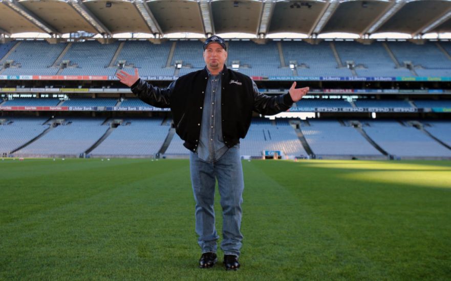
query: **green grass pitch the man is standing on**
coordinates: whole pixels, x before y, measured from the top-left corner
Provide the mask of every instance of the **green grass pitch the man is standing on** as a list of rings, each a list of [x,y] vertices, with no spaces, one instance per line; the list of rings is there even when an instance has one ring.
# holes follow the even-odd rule
[[[242,268],[226,272],[220,251],[197,268],[188,160],[0,160],[0,279],[451,278],[451,162],[243,169]]]

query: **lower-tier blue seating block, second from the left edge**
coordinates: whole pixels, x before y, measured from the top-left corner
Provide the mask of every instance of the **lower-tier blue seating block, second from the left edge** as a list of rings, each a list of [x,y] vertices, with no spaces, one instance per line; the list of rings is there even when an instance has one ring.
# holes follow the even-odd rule
[[[16,151],[14,156],[79,156],[109,129],[102,123],[103,119],[100,118],[64,118],[61,125],[51,128],[28,146]]]

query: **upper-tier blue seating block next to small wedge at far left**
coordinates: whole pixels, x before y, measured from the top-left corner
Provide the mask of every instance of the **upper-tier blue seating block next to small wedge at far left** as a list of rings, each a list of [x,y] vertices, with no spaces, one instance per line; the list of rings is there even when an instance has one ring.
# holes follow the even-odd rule
[[[4,60],[13,60],[2,75],[54,75],[58,68],[50,67],[67,43],[50,44],[47,41],[21,41]]]

